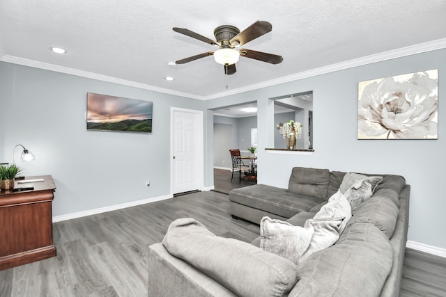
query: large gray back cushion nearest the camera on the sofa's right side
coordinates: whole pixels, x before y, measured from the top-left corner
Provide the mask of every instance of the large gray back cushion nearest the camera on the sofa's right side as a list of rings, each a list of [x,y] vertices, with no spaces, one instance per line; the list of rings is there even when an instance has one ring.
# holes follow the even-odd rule
[[[349,224],[334,246],[299,263],[289,296],[379,296],[391,268],[386,236],[371,224]]]

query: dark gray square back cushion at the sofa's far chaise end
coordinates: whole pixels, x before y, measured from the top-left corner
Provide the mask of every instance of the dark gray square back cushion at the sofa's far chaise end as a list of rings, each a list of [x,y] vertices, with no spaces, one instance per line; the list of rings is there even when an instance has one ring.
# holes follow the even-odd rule
[[[288,190],[291,193],[326,200],[329,181],[328,169],[295,167],[291,171]]]

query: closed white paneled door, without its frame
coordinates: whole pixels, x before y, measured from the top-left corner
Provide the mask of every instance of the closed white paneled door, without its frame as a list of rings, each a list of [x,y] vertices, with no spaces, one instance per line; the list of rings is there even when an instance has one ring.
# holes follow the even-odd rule
[[[203,176],[203,113],[172,110],[173,192],[199,190]]]

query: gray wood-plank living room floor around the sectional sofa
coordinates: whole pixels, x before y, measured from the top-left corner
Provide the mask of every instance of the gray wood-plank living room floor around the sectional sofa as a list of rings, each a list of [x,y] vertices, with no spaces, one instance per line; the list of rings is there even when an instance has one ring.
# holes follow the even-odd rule
[[[0,271],[0,296],[147,296],[148,246],[176,218],[247,242],[259,236],[228,209],[227,195],[208,191],[54,223],[57,256]],[[446,296],[445,280],[446,258],[406,251],[401,296]]]

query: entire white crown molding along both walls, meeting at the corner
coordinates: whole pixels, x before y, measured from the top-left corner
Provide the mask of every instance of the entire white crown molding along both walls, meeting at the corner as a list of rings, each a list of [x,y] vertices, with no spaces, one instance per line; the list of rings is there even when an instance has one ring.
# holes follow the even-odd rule
[[[317,75],[321,75],[321,74],[327,74],[330,72],[345,70],[348,68],[367,65],[367,64],[371,64],[371,63],[377,63],[377,62],[381,62],[381,61],[387,61],[387,60],[390,60],[393,58],[401,58],[401,57],[410,56],[413,54],[421,54],[426,51],[434,51],[436,49],[444,49],[444,48],[446,48],[446,38],[439,39],[439,40],[433,40],[433,41],[429,41],[429,42],[424,42],[424,43],[420,43],[418,45],[411,45],[409,47],[402,47],[400,49],[394,49],[391,51],[384,51],[379,54],[364,56],[361,58],[355,58],[353,60],[344,61],[341,63],[335,63],[332,65],[318,67],[318,68],[315,68],[312,70],[307,70],[304,72],[298,72],[295,74],[291,74],[286,77],[280,77],[278,79],[271,79],[269,81],[263,81],[261,83],[254,83],[252,85],[245,86],[243,88],[236,88],[233,90],[224,91],[222,93],[215,93],[213,95],[208,95],[208,96],[200,96],[200,95],[194,95],[194,94],[190,94],[190,93],[178,92],[175,90],[169,90],[167,88],[160,88],[160,87],[156,87],[156,86],[147,85],[144,83],[136,83],[134,81],[127,81],[125,79],[117,79],[116,77],[107,77],[106,75],[102,75],[102,74],[86,72],[86,71],[77,70],[77,69],[70,68],[70,67],[62,67],[62,66],[58,66],[58,65],[49,64],[49,63],[42,63],[42,62],[33,61],[33,60],[29,60],[29,59],[18,58],[15,56],[9,56],[9,55],[1,56],[1,54],[2,54],[1,47],[0,47],[0,56],[1,56],[0,61],[14,63],[14,64],[18,64],[18,65],[29,66],[29,67],[36,67],[36,68],[40,68],[40,69],[44,69],[44,70],[51,70],[54,72],[61,72],[61,73],[65,73],[65,74],[72,74],[72,75],[76,75],[78,77],[97,79],[99,81],[118,83],[118,84],[121,84],[124,86],[131,86],[134,88],[141,88],[144,90],[152,90],[152,91],[158,92],[158,93],[165,93],[165,94],[169,94],[169,95],[187,97],[187,98],[198,99],[198,100],[210,100],[210,99],[216,99],[216,98],[220,98],[220,97],[226,97],[229,95],[245,93],[247,91],[256,90],[259,88],[275,86],[275,85],[279,85],[281,83],[288,83],[290,81],[297,81],[299,79],[316,77]]]

